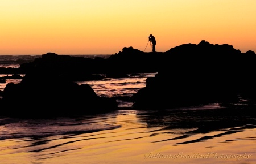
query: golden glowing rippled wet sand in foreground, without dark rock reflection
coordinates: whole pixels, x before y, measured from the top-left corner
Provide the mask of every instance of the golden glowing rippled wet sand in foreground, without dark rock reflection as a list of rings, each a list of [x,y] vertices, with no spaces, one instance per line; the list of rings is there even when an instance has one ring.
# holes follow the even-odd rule
[[[152,126],[138,111],[118,112],[84,119],[121,125],[113,130],[3,140],[1,163],[256,163],[253,125],[186,136],[196,128],[166,128],[164,119]]]

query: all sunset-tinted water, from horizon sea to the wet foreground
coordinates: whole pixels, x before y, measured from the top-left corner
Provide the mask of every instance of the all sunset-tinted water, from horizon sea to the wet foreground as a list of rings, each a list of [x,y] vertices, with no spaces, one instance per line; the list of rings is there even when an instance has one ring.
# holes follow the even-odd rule
[[[40,57],[0,55],[0,67],[18,68]],[[99,96],[118,97],[117,111],[48,119],[0,115],[0,163],[256,163],[256,116],[246,111],[218,103],[168,110],[130,109],[129,97],[155,74],[77,82],[89,84]],[[0,74],[3,76],[6,74]],[[0,90],[7,83],[1,83]]]

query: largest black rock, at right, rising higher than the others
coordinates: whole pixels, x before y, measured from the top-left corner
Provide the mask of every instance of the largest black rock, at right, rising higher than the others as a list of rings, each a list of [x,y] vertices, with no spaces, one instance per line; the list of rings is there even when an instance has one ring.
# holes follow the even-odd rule
[[[255,95],[256,55],[230,45],[201,41],[166,52],[158,74],[134,94],[133,107],[171,108],[207,103],[237,103]]]

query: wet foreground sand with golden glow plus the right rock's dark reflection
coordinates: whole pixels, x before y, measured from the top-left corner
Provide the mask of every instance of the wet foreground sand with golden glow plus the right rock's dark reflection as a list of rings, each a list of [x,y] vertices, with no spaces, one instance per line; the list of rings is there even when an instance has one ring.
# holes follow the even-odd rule
[[[255,117],[230,108],[118,110],[76,118],[114,128],[7,139],[0,156],[4,163],[255,163]]]

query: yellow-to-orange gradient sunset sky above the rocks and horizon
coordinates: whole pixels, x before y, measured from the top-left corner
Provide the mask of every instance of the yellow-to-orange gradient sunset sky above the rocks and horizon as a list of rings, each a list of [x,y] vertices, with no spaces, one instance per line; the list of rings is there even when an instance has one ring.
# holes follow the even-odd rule
[[[255,8],[255,0],[1,0],[0,54],[144,51],[150,34],[156,51],[205,40],[256,52]]]

